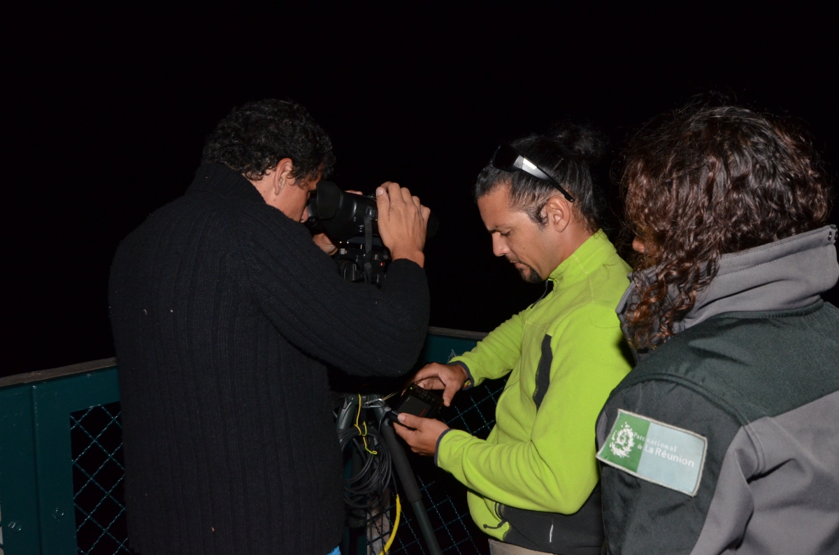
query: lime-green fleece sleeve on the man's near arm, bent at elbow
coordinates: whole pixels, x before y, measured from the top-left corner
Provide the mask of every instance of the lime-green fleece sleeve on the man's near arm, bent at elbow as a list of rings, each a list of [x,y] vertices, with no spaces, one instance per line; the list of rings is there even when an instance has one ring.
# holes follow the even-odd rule
[[[569,514],[582,506],[597,484],[592,439],[597,413],[629,366],[611,306],[586,304],[547,331],[553,338],[553,360],[550,386],[538,411],[529,414],[529,403],[500,400],[496,419],[508,430],[496,429],[487,440],[451,430],[440,439],[437,464],[485,498],[530,511]],[[490,345],[492,350],[487,349],[480,361],[487,364],[490,356],[497,355],[500,360],[492,365],[494,373],[508,365],[512,349],[500,340]],[[509,436],[517,432],[516,420],[531,416],[529,437],[511,441]],[[504,440],[498,441],[499,436]]]

